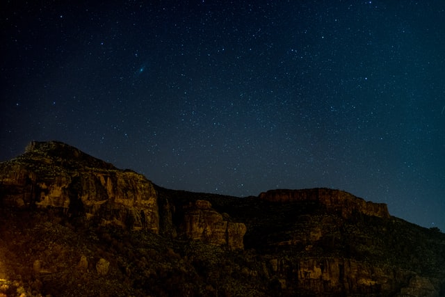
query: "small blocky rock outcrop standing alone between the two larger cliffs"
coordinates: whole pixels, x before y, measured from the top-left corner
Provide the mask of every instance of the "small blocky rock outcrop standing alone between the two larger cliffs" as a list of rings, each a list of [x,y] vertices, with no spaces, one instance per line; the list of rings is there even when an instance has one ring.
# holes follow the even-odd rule
[[[232,223],[228,215],[218,213],[211,208],[211,203],[197,200],[184,207],[184,232],[188,239],[231,249],[243,248],[243,236],[246,232],[243,223]]]

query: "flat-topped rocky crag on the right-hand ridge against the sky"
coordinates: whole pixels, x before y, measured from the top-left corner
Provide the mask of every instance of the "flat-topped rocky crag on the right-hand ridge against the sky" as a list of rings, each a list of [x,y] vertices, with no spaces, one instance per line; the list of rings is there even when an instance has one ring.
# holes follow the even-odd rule
[[[269,202],[318,202],[330,211],[341,213],[343,218],[348,218],[353,213],[389,218],[387,204],[365,201],[345,191],[330,188],[271,190],[266,193],[261,193],[259,199]]]

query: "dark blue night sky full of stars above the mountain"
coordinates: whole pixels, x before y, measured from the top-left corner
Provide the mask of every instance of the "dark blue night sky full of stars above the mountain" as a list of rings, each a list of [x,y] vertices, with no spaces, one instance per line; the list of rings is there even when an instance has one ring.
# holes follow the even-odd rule
[[[0,161],[63,141],[166,188],[339,188],[444,232],[445,1],[30,2],[0,4]]]

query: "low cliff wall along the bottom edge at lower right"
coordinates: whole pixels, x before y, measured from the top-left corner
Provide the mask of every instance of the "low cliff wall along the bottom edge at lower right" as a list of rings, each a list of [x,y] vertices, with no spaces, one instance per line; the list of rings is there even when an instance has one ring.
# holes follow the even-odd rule
[[[277,277],[280,287],[297,284],[301,293],[311,296],[380,296],[382,291],[394,290],[413,273],[389,266],[373,266],[355,259],[307,258],[270,259],[270,275]],[[414,295],[413,295],[414,296]],[[423,296],[423,295],[415,295]]]

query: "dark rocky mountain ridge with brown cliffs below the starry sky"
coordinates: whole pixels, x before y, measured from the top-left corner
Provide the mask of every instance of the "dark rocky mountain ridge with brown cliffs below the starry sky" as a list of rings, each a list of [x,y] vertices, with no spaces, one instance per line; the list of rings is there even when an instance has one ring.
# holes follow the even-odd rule
[[[344,191],[174,191],[34,141],[0,163],[0,296],[445,296],[445,234]]]

